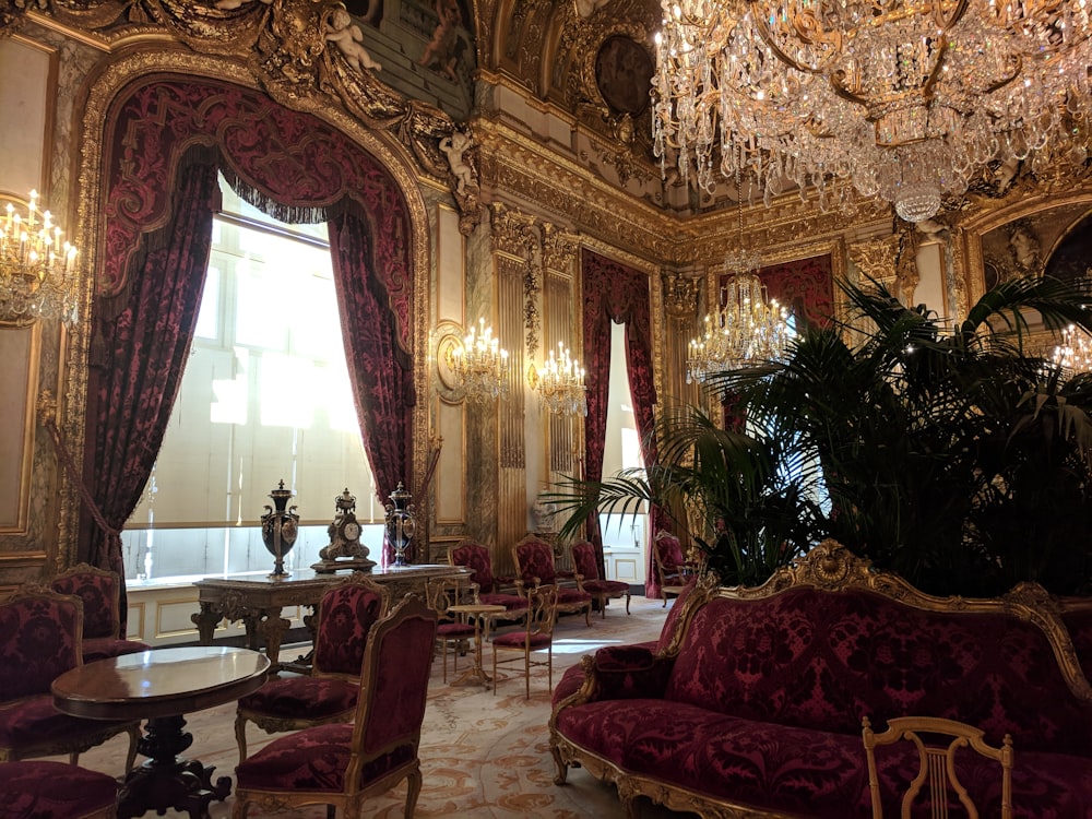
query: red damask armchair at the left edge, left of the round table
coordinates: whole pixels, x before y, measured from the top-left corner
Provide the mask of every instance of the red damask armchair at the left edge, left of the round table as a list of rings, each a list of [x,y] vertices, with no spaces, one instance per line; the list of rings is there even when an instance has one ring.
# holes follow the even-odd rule
[[[26,587],[0,603],[0,762],[80,753],[129,734],[126,771],[136,759],[138,722],[84,720],[54,708],[52,681],[83,664],[79,597]]]

